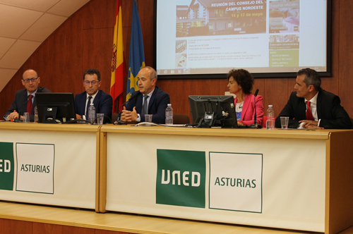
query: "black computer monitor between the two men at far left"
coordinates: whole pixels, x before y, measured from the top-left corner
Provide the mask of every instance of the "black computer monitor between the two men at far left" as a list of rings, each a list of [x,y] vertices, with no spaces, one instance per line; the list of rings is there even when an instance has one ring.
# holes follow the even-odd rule
[[[73,93],[38,92],[38,118],[41,123],[58,123],[76,119]]]

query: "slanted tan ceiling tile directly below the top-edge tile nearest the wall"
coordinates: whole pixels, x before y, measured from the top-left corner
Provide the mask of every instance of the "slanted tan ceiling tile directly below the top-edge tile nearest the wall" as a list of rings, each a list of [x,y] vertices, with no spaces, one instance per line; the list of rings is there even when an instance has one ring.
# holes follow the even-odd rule
[[[44,42],[49,35],[56,30],[64,21],[66,17],[54,16],[45,13],[39,20],[37,20],[28,30],[20,37],[20,39],[27,39],[35,42]]]

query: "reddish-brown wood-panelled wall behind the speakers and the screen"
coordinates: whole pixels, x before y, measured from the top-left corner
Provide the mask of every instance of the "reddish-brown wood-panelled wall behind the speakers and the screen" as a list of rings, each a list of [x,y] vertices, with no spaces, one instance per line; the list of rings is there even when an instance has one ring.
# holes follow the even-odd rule
[[[152,66],[154,0],[137,2],[143,30],[145,62]],[[132,0],[121,0],[126,66],[130,47],[132,4]],[[84,91],[81,82],[84,70],[94,67],[102,74],[101,89],[109,93],[115,6],[116,0],[91,0],[48,37],[1,91],[1,116],[11,105],[16,90],[23,88],[20,79],[23,71],[28,68],[37,70],[42,79],[41,85],[49,90],[77,94]],[[330,78],[322,78],[322,87],[338,94],[342,105],[353,117],[352,11],[352,0],[333,0],[333,75]],[[295,78],[257,78],[254,89],[258,88],[259,94],[263,95],[265,109],[268,104],[273,104],[275,113],[278,114],[287,103],[294,82]],[[224,94],[227,91],[226,79],[158,80],[157,85],[169,93],[174,113],[189,114],[188,95]]]

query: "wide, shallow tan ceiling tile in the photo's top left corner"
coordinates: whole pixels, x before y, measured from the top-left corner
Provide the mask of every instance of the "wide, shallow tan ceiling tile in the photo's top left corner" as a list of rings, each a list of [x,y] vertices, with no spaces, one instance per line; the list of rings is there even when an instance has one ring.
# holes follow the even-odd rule
[[[0,0],[0,4],[45,12],[59,1],[60,0]]]

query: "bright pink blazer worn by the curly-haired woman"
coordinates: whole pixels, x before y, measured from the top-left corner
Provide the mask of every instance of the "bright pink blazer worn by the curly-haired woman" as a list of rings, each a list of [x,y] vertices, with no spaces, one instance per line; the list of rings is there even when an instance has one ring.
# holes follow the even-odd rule
[[[237,97],[234,104],[237,104]],[[253,123],[253,94],[246,94],[244,98],[243,110],[241,111],[241,122],[245,125]],[[256,123],[263,124],[263,97],[256,96]]]

